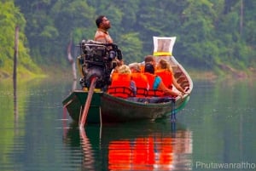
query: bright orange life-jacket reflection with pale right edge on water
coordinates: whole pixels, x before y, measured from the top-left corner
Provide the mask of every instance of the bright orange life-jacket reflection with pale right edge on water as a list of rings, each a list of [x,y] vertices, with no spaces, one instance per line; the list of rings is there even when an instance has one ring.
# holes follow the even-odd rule
[[[191,134],[159,135],[135,140],[113,140],[108,145],[109,170],[191,170]]]

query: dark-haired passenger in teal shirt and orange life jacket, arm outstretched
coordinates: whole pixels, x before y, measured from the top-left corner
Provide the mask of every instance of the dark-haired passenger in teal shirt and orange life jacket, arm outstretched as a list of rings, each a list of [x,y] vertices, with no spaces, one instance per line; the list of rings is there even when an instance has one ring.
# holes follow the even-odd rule
[[[144,74],[148,77],[149,84],[149,96],[164,96],[164,95],[172,95],[172,96],[181,96],[183,94],[172,91],[172,89],[166,88],[166,85],[162,82],[159,76],[154,74],[154,57],[148,55],[145,57],[145,70]]]

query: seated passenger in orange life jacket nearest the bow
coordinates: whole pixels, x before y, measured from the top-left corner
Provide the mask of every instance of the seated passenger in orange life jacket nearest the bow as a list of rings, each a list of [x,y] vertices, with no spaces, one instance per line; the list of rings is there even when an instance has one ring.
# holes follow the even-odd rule
[[[173,76],[172,66],[166,61],[161,59],[156,66],[156,75],[162,78],[163,83],[165,83],[167,88],[172,89],[172,85],[177,88],[178,91],[185,94],[183,88],[177,83],[175,77]]]

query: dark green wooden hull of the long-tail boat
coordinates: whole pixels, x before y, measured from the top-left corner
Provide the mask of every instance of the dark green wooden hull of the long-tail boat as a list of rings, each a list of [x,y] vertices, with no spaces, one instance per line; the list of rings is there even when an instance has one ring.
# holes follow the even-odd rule
[[[63,105],[74,121],[79,122],[88,92],[75,90]],[[155,120],[169,117],[183,108],[189,95],[164,103],[143,103],[114,97],[103,92],[92,96],[86,123],[124,123],[138,120]]]

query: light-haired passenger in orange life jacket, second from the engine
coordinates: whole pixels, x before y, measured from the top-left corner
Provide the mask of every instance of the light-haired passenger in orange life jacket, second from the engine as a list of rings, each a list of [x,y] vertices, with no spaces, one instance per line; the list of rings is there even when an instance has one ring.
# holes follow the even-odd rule
[[[132,63],[129,65],[131,70],[131,79],[136,83],[137,97],[145,97],[148,93],[148,78],[141,73],[141,67],[139,63]]]

